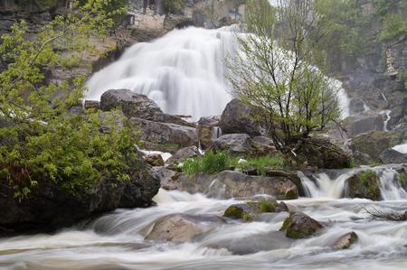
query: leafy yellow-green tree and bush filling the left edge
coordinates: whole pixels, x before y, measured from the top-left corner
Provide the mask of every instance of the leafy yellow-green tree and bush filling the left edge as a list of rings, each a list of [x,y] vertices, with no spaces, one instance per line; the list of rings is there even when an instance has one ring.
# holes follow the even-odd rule
[[[1,37],[0,182],[19,199],[43,181],[76,193],[101,175],[129,179],[137,161],[130,128],[111,125],[118,115],[70,112],[80,104],[86,79],[72,70],[102,53],[90,41],[102,38],[126,11],[124,5],[112,9],[115,2],[76,1],[73,13],[57,16],[34,35],[23,21]],[[54,70],[66,79],[52,81]],[[101,125],[109,125],[108,135],[99,132]]]

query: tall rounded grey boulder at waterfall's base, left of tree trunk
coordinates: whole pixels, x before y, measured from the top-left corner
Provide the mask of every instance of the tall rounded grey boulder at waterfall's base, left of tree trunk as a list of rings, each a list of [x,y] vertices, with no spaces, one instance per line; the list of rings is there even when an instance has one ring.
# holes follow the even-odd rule
[[[221,116],[222,134],[241,133],[260,135],[260,125],[255,121],[254,109],[235,98],[226,105]]]

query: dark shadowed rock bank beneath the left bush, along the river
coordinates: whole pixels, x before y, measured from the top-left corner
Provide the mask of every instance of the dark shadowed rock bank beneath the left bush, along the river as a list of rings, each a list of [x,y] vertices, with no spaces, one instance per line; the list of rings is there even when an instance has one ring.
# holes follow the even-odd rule
[[[151,205],[160,184],[159,179],[145,168],[133,168],[130,181],[119,182],[102,178],[89,191],[74,195],[56,187],[51,181],[42,181],[28,198],[14,199],[12,187],[0,185],[0,234],[26,231],[51,231],[69,227],[80,219],[118,208],[147,207]]]

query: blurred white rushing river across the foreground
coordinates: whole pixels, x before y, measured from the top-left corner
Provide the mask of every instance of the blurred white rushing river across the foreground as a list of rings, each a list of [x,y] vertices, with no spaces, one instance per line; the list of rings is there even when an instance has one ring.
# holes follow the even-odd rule
[[[156,206],[118,209],[99,219],[52,235],[0,239],[1,269],[407,269],[407,222],[371,219],[365,209],[407,209],[407,193],[393,182],[391,169],[381,171],[385,200],[340,199],[344,174],[303,177],[314,198],[287,200],[325,225],[315,237],[291,240],[279,231],[288,213],[272,213],[250,223],[229,220],[187,243],[145,240],[156,219],[173,213],[222,215],[237,200],[215,200],[203,194],[160,190]],[[317,187],[318,186],[318,187]],[[393,194],[393,195],[392,195]],[[349,249],[330,246],[355,231]]]

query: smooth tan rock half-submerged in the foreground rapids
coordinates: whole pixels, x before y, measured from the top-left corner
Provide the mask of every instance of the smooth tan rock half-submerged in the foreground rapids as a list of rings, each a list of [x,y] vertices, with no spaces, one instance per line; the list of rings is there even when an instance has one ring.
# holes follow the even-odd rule
[[[187,242],[222,223],[224,223],[222,218],[211,215],[168,215],[155,221],[146,240]]]

